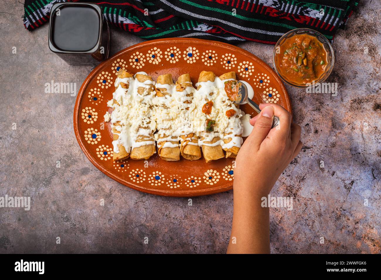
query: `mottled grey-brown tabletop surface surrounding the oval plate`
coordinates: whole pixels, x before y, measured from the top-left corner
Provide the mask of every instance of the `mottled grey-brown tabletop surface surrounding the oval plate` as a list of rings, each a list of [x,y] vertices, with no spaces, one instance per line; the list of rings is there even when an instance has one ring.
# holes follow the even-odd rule
[[[288,87],[304,147],[271,193],[294,197],[292,211],[270,210],[272,253],[381,251],[381,3],[369,2],[335,38],[338,96]],[[30,196],[32,207],[0,208],[0,253],[226,252],[232,191],[188,206],[120,185],[88,161],[74,136],[75,97],[45,94],[44,84],[78,90],[91,67],[63,62],[48,25],[28,32],[22,14],[17,1],[0,3],[0,196]],[[112,54],[142,41],[115,29],[111,40]],[[273,46],[239,46],[272,65]]]

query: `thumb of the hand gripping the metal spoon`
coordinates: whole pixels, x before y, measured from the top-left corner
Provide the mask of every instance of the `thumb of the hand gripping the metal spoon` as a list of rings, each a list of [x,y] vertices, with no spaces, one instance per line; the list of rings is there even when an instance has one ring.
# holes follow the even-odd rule
[[[274,119],[274,108],[266,106],[259,113],[258,118],[255,121],[254,129],[251,132],[252,141],[256,145],[260,146],[264,138],[267,137],[272,127],[272,121]]]

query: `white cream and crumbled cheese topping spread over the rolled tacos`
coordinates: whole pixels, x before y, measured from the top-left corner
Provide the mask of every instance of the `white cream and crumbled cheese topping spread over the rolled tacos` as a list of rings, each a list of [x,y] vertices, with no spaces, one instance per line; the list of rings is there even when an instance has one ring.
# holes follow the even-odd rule
[[[137,74],[147,75],[145,72]],[[240,147],[243,142],[242,137],[235,135],[241,135],[246,130],[242,125],[242,119],[248,119],[250,115],[245,116],[245,113],[236,108],[227,97],[224,82],[228,80],[220,80],[216,77],[213,82],[200,82],[195,85],[200,86],[198,90],[192,86],[191,82],[184,82],[182,83],[183,90],[179,91],[178,89],[181,90],[181,88],[179,86],[176,88],[175,84],[155,84],[150,80],[139,82],[136,76],[117,78],[116,90],[113,93],[115,102],[112,105],[113,111],[110,117],[112,126],[120,131],[117,134],[118,139],[112,142],[114,152],[119,152],[118,145],[123,145],[129,153],[133,148],[155,144],[154,141],[137,142],[136,140],[141,135],[150,137],[156,131],[155,140],[165,142],[161,148],[178,147],[180,136],[191,133],[196,134],[199,140],[198,143],[193,143],[191,138],[187,138],[188,145],[221,145],[225,150],[233,146]],[[121,82],[128,84],[128,89],[123,88]],[[150,90],[151,85],[155,85],[158,89],[165,89],[165,95],[156,96],[155,91]],[[139,94],[139,88],[144,89],[143,94]],[[207,101],[213,101],[210,115],[202,112],[202,107]],[[112,103],[109,101],[107,104]],[[231,109],[235,111],[235,114],[228,118],[226,111]],[[205,132],[207,118],[216,121],[213,132]],[[227,135],[224,136],[224,134]],[[219,137],[220,140],[215,143],[205,143],[211,142],[215,137]],[[223,140],[229,138],[231,141],[224,143]]]

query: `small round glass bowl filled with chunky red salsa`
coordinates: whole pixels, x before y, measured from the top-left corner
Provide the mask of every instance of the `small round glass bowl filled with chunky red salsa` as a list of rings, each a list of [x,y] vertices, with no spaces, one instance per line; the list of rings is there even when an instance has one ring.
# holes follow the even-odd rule
[[[275,44],[274,68],[285,83],[308,87],[331,74],[335,53],[323,34],[309,28],[285,33]]]

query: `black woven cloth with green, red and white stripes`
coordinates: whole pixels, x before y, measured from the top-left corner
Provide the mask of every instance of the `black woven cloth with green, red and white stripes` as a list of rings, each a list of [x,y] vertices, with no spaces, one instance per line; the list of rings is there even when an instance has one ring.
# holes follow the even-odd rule
[[[24,25],[34,30],[49,21],[54,3],[26,0]],[[76,2],[76,1],[72,1]],[[275,44],[288,30],[311,28],[329,40],[343,28],[358,0],[106,0],[96,3],[111,25],[152,40],[193,37],[237,43]]]

